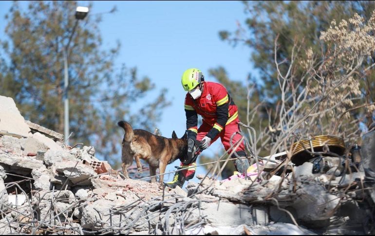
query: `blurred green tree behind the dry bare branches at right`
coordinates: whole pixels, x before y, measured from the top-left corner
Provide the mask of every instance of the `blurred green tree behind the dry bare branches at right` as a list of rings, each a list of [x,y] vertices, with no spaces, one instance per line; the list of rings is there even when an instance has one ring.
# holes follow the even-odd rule
[[[244,43],[252,48],[251,60],[260,71],[262,86],[261,100],[274,102],[280,99],[279,85],[276,81],[277,70],[274,66],[274,40],[278,38],[276,59],[281,63],[281,73],[286,73],[290,66],[289,56],[295,42],[313,52],[324,50],[320,32],[327,29],[333,19],[341,20],[352,17],[355,13],[369,19],[375,9],[374,1],[243,1],[245,28],[234,32],[221,31],[219,36],[233,45]],[[306,59],[306,58],[304,58]],[[372,61],[375,61],[373,56]],[[362,68],[372,62],[364,61]],[[294,68],[296,80],[304,73],[303,67]],[[375,73],[369,72],[360,82],[366,101],[375,100],[371,91],[375,88]],[[372,114],[366,113],[368,125],[372,123]]]

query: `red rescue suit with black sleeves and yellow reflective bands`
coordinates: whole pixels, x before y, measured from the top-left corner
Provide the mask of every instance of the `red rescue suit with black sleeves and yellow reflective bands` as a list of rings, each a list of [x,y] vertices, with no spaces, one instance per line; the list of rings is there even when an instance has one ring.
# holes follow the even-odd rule
[[[211,138],[211,144],[219,137],[225,150],[235,146],[241,138],[239,132],[238,109],[222,84],[202,82],[202,95],[193,99],[189,93],[185,97],[187,138],[201,141],[205,136]],[[198,127],[198,114],[203,124]],[[232,143],[230,139],[232,137]],[[240,156],[245,156],[244,142],[236,148]]]

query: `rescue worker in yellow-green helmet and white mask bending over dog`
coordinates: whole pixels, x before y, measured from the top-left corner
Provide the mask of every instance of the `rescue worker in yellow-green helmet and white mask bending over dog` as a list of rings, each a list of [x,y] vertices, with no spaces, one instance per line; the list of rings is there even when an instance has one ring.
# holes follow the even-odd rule
[[[202,72],[196,68],[186,70],[181,78],[182,87],[187,91],[185,97],[185,113],[187,128],[187,156],[192,157],[195,152],[194,140],[200,141],[201,150],[206,149],[219,137],[225,150],[235,146],[242,136],[239,132],[238,110],[234,101],[222,84],[206,82]],[[198,114],[202,116],[203,124],[198,128]],[[236,153],[241,158],[246,156],[244,142],[237,147]],[[233,153],[232,158],[237,156]],[[247,159],[237,159],[234,165],[238,172],[244,173],[250,166]],[[181,163],[179,168],[186,170],[177,171],[167,186],[182,188],[185,181],[194,177],[196,163]]]

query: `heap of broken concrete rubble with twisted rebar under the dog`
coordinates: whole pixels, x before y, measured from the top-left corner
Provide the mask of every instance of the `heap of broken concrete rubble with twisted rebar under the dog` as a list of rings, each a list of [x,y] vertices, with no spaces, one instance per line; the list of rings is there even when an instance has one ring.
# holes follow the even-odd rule
[[[20,116],[13,100],[0,96],[0,101]],[[201,182],[189,182],[186,190],[163,189],[159,183],[123,179],[95,158],[94,147],[71,148],[53,132],[40,133],[43,127],[18,130],[12,126],[25,121],[14,121],[0,121],[0,129],[21,134],[0,135],[0,234],[375,232],[375,176],[369,171],[313,174],[313,164],[304,163],[283,178],[266,172],[227,182],[197,176]],[[375,141],[375,134],[367,138]]]

